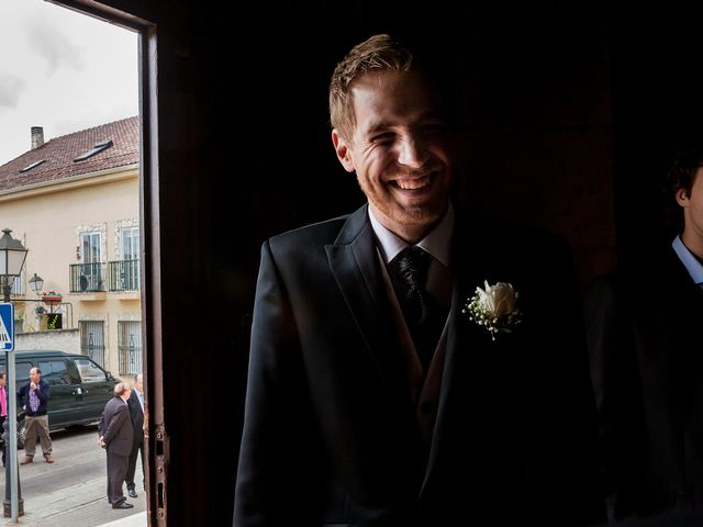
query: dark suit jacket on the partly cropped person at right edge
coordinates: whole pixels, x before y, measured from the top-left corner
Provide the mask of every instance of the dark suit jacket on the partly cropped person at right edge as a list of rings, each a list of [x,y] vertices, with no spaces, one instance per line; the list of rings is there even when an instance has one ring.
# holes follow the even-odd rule
[[[669,525],[703,516],[703,291],[671,247],[640,265],[592,285],[589,348],[610,516]]]

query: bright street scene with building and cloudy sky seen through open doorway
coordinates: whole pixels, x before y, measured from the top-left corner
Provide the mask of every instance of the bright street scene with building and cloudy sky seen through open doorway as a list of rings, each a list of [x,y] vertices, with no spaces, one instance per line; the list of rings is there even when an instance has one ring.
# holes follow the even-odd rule
[[[0,5],[0,526],[146,525],[137,40]]]

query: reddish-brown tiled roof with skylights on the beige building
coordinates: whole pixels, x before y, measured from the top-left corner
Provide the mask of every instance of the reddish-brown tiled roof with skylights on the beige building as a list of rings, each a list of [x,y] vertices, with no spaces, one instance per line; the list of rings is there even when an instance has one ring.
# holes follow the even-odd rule
[[[105,141],[112,141],[113,145],[86,160],[74,161],[74,158]],[[26,172],[20,171],[41,159],[45,159],[45,162]],[[138,116],[54,137],[38,148],[22,154],[0,166],[0,191],[18,189],[27,184],[59,181],[70,176],[97,172],[136,162],[140,162]]]

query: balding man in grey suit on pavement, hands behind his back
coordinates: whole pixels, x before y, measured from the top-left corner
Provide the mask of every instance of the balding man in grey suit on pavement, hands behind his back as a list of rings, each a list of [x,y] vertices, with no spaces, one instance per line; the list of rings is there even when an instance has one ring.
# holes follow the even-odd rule
[[[134,431],[127,400],[132,390],[126,382],[114,386],[114,397],[108,401],[98,424],[98,445],[108,451],[108,501],[112,508],[132,508],[122,493],[127,463],[134,446]]]

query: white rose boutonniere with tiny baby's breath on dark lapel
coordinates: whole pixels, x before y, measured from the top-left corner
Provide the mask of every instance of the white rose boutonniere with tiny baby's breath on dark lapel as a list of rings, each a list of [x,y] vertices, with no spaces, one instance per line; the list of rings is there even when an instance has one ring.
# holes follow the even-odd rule
[[[520,324],[520,295],[510,283],[498,282],[495,285],[489,285],[488,280],[483,283],[486,288],[476,288],[476,293],[467,299],[461,313],[468,313],[469,318],[486,327],[495,340],[496,334],[512,333],[513,326]]]

